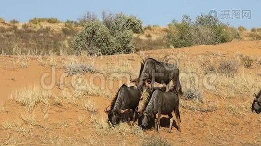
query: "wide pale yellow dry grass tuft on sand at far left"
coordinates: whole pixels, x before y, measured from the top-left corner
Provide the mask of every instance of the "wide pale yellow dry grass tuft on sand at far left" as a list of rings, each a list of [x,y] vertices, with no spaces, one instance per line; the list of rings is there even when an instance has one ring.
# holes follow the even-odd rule
[[[33,110],[40,102],[49,105],[49,97],[52,97],[50,91],[40,90],[36,85],[15,90],[10,96],[11,99],[14,99],[21,106],[26,106],[29,111]]]

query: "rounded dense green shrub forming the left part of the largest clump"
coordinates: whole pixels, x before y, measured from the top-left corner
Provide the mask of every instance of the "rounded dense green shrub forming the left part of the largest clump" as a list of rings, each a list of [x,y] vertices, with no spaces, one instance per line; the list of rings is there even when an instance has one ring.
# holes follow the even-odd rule
[[[84,50],[90,55],[111,55],[116,52],[115,44],[115,38],[100,21],[87,21],[74,38],[73,48],[76,55]]]

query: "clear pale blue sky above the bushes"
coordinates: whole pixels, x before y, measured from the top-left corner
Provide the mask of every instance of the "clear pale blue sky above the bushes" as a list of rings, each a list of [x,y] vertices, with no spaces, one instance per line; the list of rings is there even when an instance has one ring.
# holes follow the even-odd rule
[[[6,21],[17,19],[26,22],[31,18],[58,18],[77,20],[86,11],[101,16],[103,10],[113,13],[133,14],[143,21],[143,25],[167,26],[172,19],[180,20],[182,15],[208,14],[216,10],[221,18],[221,10],[230,10],[231,26],[243,25],[248,29],[261,27],[261,0],[1,0],[0,17]],[[240,11],[240,19],[232,19],[232,10]],[[243,10],[251,10],[251,18],[242,18]]]

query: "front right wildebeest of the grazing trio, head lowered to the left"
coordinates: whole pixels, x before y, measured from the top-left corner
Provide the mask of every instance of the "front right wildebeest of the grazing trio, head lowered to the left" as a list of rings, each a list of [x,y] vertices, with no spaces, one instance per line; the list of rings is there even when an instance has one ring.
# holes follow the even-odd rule
[[[175,112],[176,122],[178,126],[178,131],[180,130],[180,114],[179,114],[179,97],[174,93],[174,89],[169,92],[163,92],[159,89],[156,89],[152,93],[152,97],[146,107],[146,110],[137,111],[139,118],[141,118],[142,126],[147,127],[148,122],[154,118],[155,120],[155,131],[159,131],[160,127],[160,117],[161,114],[168,115],[170,118],[170,126],[169,132],[172,129],[173,116],[172,111]],[[156,114],[158,114],[158,118],[156,119]]]

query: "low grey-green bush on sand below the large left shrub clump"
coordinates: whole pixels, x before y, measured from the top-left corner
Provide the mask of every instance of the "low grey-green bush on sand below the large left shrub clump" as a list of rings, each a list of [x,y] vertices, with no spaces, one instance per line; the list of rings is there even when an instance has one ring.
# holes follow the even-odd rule
[[[93,72],[95,72],[93,66],[87,64],[72,64],[65,66],[65,73],[67,73],[68,76]]]

